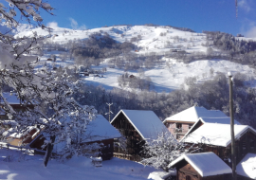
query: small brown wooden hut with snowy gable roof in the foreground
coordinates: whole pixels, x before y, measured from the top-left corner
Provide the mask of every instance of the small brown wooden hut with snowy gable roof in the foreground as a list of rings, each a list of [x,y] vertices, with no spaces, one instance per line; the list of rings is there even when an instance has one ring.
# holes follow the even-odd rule
[[[231,180],[232,170],[215,153],[190,153],[175,159],[177,180]]]

